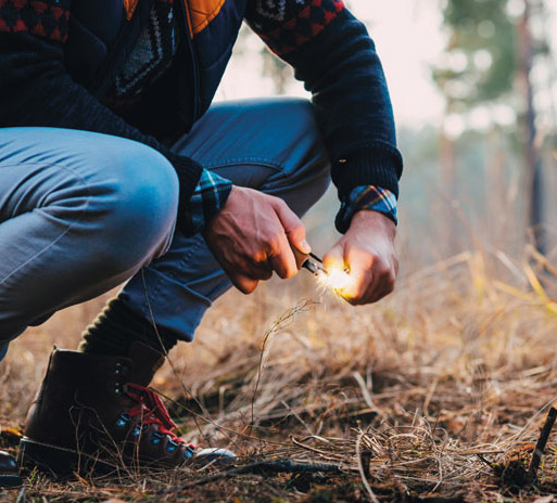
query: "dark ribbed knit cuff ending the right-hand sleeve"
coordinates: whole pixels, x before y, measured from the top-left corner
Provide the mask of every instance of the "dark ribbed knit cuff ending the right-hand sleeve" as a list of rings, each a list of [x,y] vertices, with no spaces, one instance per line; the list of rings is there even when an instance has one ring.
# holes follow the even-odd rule
[[[375,185],[398,197],[403,170],[401,153],[388,143],[371,142],[351,149],[332,163],[332,181],[344,201],[357,186]]]

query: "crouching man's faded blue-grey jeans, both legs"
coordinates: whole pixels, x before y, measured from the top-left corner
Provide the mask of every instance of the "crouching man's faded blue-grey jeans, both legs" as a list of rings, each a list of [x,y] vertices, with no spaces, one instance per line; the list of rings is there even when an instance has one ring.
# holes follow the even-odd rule
[[[275,99],[214,105],[173,150],[303,215],[330,170],[312,105]],[[201,235],[175,231],[178,183],[154,150],[54,128],[0,129],[0,359],[55,311],[129,282],[136,312],[191,340],[230,281]],[[140,271],[140,269],[143,269]]]

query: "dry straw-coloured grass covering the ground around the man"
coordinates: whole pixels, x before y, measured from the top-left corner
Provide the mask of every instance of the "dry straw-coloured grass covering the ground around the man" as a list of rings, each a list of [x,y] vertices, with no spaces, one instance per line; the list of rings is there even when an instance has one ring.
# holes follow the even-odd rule
[[[153,385],[188,439],[237,451],[240,467],[63,485],[30,474],[23,493],[0,501],[540,500],[557,488],[555,438],[534,483],[514,487],[511,470],[528,463],[557,398],[557,276],[529,258],[464,253],[360,309],[320,299],[308,275],[230,294]],[[23,423],[51,341],[75,346],[74,327],[96,308],[13,345],[0,372],[2,425]],[[327,466],[241,467],[284,459]]]

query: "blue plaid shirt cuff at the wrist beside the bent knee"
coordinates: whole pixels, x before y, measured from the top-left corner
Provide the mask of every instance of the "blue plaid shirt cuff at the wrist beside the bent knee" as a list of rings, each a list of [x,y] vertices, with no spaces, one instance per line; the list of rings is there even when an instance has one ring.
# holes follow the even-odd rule
[[[189,204],[189,228],[201,232],[211,219],[223,208],[232,190],[232,182],[203,169]]]

